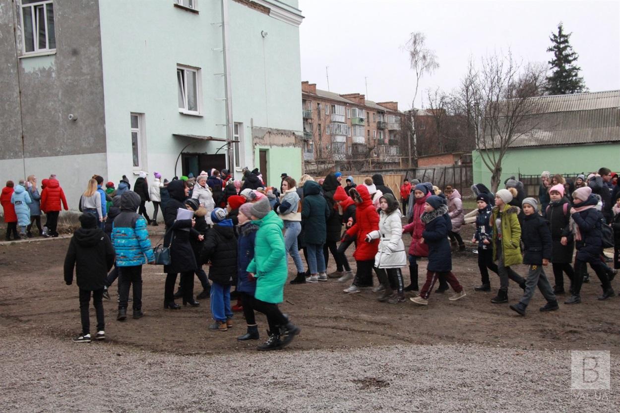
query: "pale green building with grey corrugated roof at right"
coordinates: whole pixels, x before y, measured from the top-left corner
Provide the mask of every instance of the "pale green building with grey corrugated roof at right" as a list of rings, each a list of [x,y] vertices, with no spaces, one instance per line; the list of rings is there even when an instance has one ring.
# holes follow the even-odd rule
[[[516,138],[502,161],[511,175],[574,174],[608,167],[620,171],[620,91],[545,96],[536,128]],[[491,172],[472,152],[474,182],[490,185]],[[572,177],[572,176],[567,176]],[[574,177],[572,177],[574,178]]]

